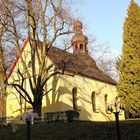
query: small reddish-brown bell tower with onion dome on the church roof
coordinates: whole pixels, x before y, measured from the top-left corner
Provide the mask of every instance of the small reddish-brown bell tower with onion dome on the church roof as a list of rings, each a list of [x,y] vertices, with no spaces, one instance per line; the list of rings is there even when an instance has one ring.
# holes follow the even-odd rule
[[[71,44],[73,47],[73,54],[88,54],[87,44],[88,38],[83,35],[83,24],[81,21],[76,20],[74,22],[74,33]]]

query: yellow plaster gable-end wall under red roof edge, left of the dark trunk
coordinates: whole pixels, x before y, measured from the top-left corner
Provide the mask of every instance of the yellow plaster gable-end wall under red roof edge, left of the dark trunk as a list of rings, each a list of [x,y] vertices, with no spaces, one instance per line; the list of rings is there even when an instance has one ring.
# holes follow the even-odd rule
[[[29,61],[31,60],[29,42],[26,44],[26,47],[24,48],[24,51],[22,52],[22,57],[26,64],[28,64]],[[28,67],[28,69],[30,68]],[[22,74],[24,73],[24,67],[23,67],[21,58],[19,58],[18,63],[16,64],[14,68],[14,71],[9,77],[8,84],[13,83],[13,81],[15,81],[15,83],[21,82],[21,77],[19,76],[17,72],[18,70],[20,70]],[[29,93],[31,92],[29,83],[27,80],[25,80],[24,87],[26,87]],[[21,106],[24,107],[25,104],[27,103],[23,99],[22,99],[22,104],[20,104],[20,96],[17,93],[17,91],[12,86],[7,86],[6,115],[13,116],[13,117],[18,116],[19,114],[24,112],[24,109],[21,109]]]

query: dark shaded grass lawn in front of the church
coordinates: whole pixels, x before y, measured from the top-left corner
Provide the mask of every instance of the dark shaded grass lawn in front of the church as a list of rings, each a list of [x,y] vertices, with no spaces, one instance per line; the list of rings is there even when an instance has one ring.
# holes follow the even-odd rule
[[[140,120],[120,122],[122,140],[140,140]],[[26,140],[26,126],[0,127],[0,140]],[[31,126],[31,140],[117,140],[115,122],[51,122]]]

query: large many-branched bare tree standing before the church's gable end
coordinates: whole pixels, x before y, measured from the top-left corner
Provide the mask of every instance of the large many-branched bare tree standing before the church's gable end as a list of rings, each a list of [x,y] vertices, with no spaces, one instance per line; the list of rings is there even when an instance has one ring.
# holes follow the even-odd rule
[[[71,33],[71,16],[67,12],[64,0],[6,0],[2,2],[0,24],[3,26],[3,38],[12,43],[20,54],[21,43],[28,36],[31,50],[31,70],[20,56],[23,71],[18,69],[20,82],[7,83],[20,94],[41,115],[42,98],[52,89],[45,90],[48,80],[61,72],[51,71],[54,65],[47,65],[48,51],[60,36]],[[6,20],[5,20],[6,17]],[[24,30],[24,32],[23,32]],[[41,41],[41,43],[40,43]],[[36,68],[38,64],[38,68]],[[24,87],[29,82],[31,95]],[[32,98],[33,97],[33,98]]]

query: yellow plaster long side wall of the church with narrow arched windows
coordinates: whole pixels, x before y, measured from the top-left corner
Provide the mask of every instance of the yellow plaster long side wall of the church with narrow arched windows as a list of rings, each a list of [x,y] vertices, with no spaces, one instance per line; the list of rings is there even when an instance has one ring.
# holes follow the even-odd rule
[[[77,87],[77,106],[80,113],[80,120],[114,120],[113,114],[106,113],[106,106],[104,101],[105,94],[108,94],[107,103],[112,104],[115,100],[117,92],[114,85],[85,78],[80,75],[75,75],[73,77],[67,75],[59,75],[55,79],[57,79],[57,82],[55,82],[57,83],[56,88],[53,92],[48,94],[46,101],[49,102],[49,104],[46,106],[46,109],[43,109],[43,113],[72,110],[72,89],[74,87]],[[93,91],[96,92],[96,106],[98,109],[98,113],[95,113],[92,108],[91,94]],[[54,98],[53,101],[52,97]],[[119,115],[119,117],[121,120],[123,120],[124,113]]]

